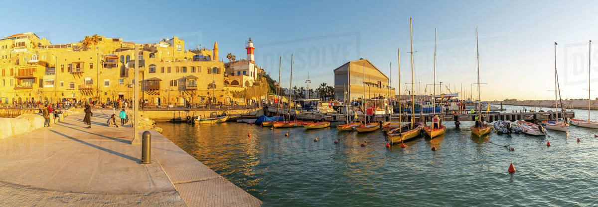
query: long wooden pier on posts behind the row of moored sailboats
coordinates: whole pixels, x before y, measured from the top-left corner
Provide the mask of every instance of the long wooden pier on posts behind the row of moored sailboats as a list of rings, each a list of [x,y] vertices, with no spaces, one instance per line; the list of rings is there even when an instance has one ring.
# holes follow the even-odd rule
[[[274,116],[276,115],[276,108],[267,108],[264,110],[267,116]],[[287,115],[288,109],[278,109],[280,115]],[[441,119],[443,121],[455,121],[459,123],[460,121],[475,121],[475,116],[477,114],[445,114],[441,115]],[[526,120],[531,121],[533,123],[538,123],[539,121],[548,121],[554,120],[557,113],[553,111],[534,111],[534,112],[494,112],[494,113],[482,113],[484,117],[484,121],[496,121],[496,120],[505,120],[505,121],[517,121],[517,120]],[[573,111],[565,111],[564,113],[558,113],[559,118],[573,118],[575,117],[575,112]],[[347,121],[349,118],[349,122],[352,121],[361,121],[364,120],[364,115],[349,115],[347,114],[338,114],[338,113],[327,113],[327,114],[319,114],[314,112],[300,112],[297,114],[294,109],[291,109],[291,116],[297,118],[298,120],[311,120],[311,121]],[[432,114],[414,114],[413,117],[416,121],[432,121]],[[390,121],[390,115],[382,114],[382,115],[367,115],[368,121]],[[398,121],[399,115],[392,114],[392,121]],[[404,114],[402,115],[402,121],[409,121],[411,120],[411,114]]]

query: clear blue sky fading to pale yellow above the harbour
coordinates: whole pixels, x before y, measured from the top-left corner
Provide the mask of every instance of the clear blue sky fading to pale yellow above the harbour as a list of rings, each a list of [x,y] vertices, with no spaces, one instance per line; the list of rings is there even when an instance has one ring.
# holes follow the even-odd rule
[[[54,44],[86,35],[155,43],[179,36],[187,49],[212,48],[255,62],[288,87],[334,85],[332,70],[369,59],[401,93],[414,83],[432,93],[434,30],[436,78],[443,93],[477,99],[476,28],[483,100],[554,99],[554,42],[563,99],[587,99],[588,40],[598,40],[598,1],[28,1],[35,11],[0,12],[0,36],[34,32]],[[22,2],[3,3],[21,8]],[[411,81],[410,24],[413,70]],[[598,41],[597,41],[598,42]],[[595,44],[594,44],[595,45]],[[400,52],[397,52],[398,49]],[[398,57],[399,56],[399,57]],[[591,83],[598,89],[598,45],[591,49]],[[225,61],[228,61],[225,59]],[[392,73],[392,76],[391,76]],[[427,87],[426,87],[427,85]],[[550,91],[553,90],[553,91]],[[596,90],[598,91],[598,90]],[[398,93],[398,91],[397,91]],[[440,86],[437,86],[440,93]],[[598,92],[591,99],[598,97]]]

